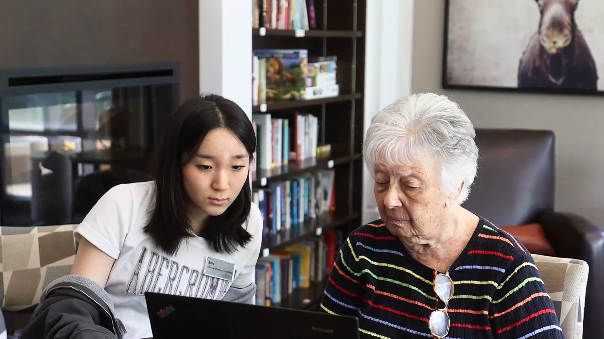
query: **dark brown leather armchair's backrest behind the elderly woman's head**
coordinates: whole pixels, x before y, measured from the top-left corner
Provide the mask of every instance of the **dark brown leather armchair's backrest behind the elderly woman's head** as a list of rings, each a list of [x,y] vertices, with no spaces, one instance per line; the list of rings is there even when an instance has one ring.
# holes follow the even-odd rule
[[[476,143],[478,174],[464,208],[497,226],[553,211],[553,131],[477,128]]]

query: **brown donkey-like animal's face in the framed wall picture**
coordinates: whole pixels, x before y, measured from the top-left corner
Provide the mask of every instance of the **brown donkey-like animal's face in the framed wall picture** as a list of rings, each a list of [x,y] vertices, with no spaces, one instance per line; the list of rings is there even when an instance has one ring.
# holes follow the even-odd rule
[[[548,54],[557,54],[573,40],[574,11],[579,0],[536,0],[541,11],[540,42]]]

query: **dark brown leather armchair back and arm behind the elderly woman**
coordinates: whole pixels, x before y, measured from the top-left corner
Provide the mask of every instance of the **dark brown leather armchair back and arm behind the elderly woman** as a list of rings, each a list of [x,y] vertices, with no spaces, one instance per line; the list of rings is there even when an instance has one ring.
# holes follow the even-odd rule
[[[538,223],[555,256],[586,261],[583,337],[604,338],[604,232],[554,211],[554,140],[553,131],[478,128],[478,176],[463,206],[497,226]]]

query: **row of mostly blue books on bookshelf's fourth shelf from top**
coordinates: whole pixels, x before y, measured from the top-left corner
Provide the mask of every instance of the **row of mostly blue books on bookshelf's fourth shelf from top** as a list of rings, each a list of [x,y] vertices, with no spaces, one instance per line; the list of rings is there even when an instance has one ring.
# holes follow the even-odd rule
[[[302,224],[335,210],[335,171],[320,170],[289,180],[269,183],[255,189],[252,201],[257,204],[264,223],[263,235]]]

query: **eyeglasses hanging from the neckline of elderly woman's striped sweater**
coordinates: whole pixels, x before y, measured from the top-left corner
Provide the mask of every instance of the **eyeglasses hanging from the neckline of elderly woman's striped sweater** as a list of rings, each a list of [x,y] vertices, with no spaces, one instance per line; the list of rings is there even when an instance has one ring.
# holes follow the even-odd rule
[[[449,277],[449,272],[443,274],[434,271],[434,292],[438,299],[445,303],[445,308],[438,308],[437,299],[435,311],[430,314],[430,320],[428,326],[430,333],[434,335],[434,338],[445,338],[449,334],[449,326],[451,326],[451,319],[449,318],[449,300],[453,297],[453,280]]]

